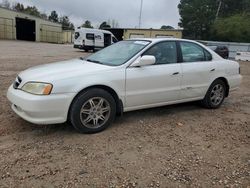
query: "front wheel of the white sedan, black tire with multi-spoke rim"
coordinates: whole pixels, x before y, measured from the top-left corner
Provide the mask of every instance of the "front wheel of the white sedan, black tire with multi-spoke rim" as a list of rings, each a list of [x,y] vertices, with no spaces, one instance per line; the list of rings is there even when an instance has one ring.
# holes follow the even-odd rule
[[[80,93],[72,102],[69,119],[80,133],[97,133],[106,129],[114,120],[116,103],[103,89],[89,89]]]

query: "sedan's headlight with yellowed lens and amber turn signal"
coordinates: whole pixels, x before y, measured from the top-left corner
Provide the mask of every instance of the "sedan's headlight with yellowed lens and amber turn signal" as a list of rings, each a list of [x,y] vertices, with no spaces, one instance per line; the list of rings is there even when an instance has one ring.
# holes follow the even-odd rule
[[[49,83],[27,82],[21,89],[35,95],[49,95],[52,87]]]

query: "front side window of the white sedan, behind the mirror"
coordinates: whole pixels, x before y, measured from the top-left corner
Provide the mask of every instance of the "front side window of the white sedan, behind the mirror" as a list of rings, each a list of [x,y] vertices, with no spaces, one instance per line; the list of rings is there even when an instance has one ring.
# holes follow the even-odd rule
[[[177,63],[177,50],[174,41],[166,41],[155,44],[144,55],[155,56],[155,64]]]

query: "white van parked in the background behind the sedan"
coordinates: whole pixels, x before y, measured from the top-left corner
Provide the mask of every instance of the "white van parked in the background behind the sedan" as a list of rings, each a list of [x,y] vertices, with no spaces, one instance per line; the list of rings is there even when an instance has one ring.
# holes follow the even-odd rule
[[[118,40],[115,36],[106,30],[78,28],[75,31],[74,48],[89,50],[105,48]]]

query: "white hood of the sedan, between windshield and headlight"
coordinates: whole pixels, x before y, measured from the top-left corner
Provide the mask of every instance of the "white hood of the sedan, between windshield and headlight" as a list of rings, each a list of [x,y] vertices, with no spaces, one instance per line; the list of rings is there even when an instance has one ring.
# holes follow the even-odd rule
[[[111,66],[72,59],[57,63],[50,63],[29,68],[19,74],[25,81],[51,81],[77,75],[96,74],[99,71],[112,69]]]

